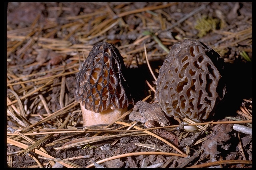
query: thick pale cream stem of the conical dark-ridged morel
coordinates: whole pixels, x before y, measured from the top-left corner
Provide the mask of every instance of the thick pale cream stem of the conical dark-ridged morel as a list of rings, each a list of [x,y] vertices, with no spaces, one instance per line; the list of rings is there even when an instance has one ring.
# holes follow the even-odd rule
[[[120,116],[122,116],[125,112],[127,112],[127,108],[115,110],[108,108],[105,111],[95,113],[93,111],[85,109],[84,106],[82,106],[81,104],[80,106],[83,116],[83,126],[110,124],[118,119]]]

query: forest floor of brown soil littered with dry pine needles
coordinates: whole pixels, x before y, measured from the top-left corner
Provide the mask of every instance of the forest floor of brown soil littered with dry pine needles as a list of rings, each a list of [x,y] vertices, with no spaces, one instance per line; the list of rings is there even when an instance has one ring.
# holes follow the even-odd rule
[[[205,128],[190,131],[182,119],[162,113],[144,52],[145,44],[157,77],[168,50],[187,38],[221,55],[228,91]],[[138,103],[122,121],[84,128],[74,98],[76,76],[102,41],[123,56]],[[10,2],[6,78],[8,167],[252,167],[250,2]],[[163,122],[150,122],[153,112]],[[235,124],[248,130],[237,131]]]

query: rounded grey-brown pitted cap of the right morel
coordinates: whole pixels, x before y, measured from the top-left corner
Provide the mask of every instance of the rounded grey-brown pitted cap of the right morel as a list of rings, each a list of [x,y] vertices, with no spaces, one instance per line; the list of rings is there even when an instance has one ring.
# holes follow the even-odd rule
[[[220,55],[202,42],[174,44],[157,78],[156,99],[163,111],[195,122],[214,116],[226,93],[223,65]]]

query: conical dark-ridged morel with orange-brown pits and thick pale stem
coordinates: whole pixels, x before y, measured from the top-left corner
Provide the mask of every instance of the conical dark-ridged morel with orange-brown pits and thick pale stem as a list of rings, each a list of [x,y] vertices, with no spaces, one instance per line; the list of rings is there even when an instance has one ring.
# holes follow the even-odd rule
[[[107,42],[95,44],[76,79],[83,126],[110,124],[134,104],[123,76],[123,57]]]

